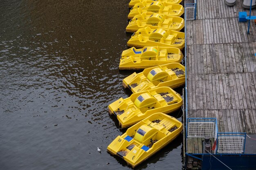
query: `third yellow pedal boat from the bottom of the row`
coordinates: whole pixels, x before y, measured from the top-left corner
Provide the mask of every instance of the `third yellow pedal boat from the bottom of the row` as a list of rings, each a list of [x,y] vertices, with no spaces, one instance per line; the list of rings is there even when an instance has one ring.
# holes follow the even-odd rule
[[[146,91],[157,87],[176,88],[185,84],[185,67],[180,63],[170,63],[144,69],[123,79],[124,88],[132,93]]]

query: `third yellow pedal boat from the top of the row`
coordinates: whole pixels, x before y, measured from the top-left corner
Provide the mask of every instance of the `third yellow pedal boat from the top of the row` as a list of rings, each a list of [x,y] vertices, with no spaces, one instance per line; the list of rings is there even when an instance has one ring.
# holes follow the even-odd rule
[[[135,17],[130,20],[128,26],[126,26],[126,32],[136,32],[138,29],[144,28],[145,26],[149,26],[150,29],[161,28],[166,31],[168,31],[168,29],[180,31],[184,27],[184,19],[159,13],[141,13],[135,15]]]

